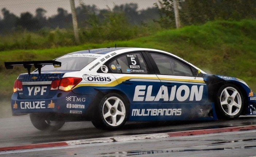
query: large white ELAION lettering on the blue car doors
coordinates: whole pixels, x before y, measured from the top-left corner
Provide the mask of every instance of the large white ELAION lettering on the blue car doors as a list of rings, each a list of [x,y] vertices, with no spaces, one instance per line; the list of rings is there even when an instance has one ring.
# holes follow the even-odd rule
[[[207,89],[204,84],[175,84],[167,86],[137,85],[133,101],[154,102],[204,102],[207,100]]]

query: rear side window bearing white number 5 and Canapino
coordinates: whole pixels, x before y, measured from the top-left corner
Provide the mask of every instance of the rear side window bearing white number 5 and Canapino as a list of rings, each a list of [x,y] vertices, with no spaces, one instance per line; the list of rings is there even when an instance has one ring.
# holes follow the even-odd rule
[[[146,63],[140,52],[117,56],[110,63],[107,63],[107,66],[109,67],[109,72],[112,73],[148,73]]]

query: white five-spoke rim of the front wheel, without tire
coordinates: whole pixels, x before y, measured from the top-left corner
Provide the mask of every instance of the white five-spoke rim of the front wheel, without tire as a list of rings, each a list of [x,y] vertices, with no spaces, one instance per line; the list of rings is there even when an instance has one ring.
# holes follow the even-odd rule
[[[228,86],[221,92],[221,108],[229,116],[235,116],[242,108],[242,99],[236,88]]]

